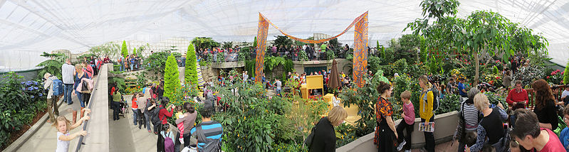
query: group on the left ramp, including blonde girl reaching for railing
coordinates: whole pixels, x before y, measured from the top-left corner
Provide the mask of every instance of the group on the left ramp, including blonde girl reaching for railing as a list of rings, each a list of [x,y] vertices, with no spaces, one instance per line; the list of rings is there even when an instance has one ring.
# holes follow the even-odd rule
[[[86,106],[90,101],[90,93],[93,91],[93,77],[98,75],[100,66],[110,62],[107,58],[83,58],[78,64],[72,65],[71,59],[67,58],[61,66],[61,80],[46,72],[43,75],[44,89],[47,95],[48,123],[57,129],[57,148],[56,151],[68,151],[69,142],[78,136],[85,136],[86,131],[78,131],[70,134],[72,129],[77,128],[83,121],[90,119],[85,114],[90,113]],[[73,116],[70,119],[59,115],[59,99],[73,109]],[[80,119],[77,119],[77,113]]]

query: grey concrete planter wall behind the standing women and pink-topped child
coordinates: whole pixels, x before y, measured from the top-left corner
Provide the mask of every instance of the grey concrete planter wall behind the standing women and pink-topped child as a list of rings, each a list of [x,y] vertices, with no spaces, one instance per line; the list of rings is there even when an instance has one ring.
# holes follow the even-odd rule
[[[395,121],[395,126],[400,123],[402,119]],[[419,131],[420,118],[415,119],[414,129],[412,132],[412,148],[419,148],[424,146],[424,134]],[[448,112],[434,116],[434,141],[435,144],[445,143],[452,140],[452,135],[456,130],[456,125],[459,122],[458,112]],[[373,144],[374,133],[367,134],[356,139],[355,141],[346,144],[336,151],[377,151],[375,144]],[[409,144],[409,143],[407,143]]]

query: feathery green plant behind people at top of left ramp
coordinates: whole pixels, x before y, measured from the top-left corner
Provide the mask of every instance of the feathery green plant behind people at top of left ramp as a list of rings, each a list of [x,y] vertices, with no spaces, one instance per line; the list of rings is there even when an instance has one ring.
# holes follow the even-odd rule
[[[49,60],[43,61],[36,65],[36,67],[43,67],[38,72],[38,80],[43,79],[43,75],[46,72],[51,73],[51,75],[55,75],[58,78],[61,78],[61,65],[65,63],[67,56],[63,53],[45,53],[43,52],[43,57],[49,58]]]

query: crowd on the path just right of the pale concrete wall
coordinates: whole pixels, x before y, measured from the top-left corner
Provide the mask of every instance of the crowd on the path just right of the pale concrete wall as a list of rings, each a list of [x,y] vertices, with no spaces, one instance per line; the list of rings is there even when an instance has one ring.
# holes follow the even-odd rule
[[[202,115],[202,122],[194,126],[197,109],[189,102],[182,106],[171,104],[169,98],[164,97],[164,80],[159,82],[159,85],[148,84],[142,88],[142,92],[132,94],[130,107],[126,109],[132,110],[134,126],[138,126],[139,129],[145,128],[148,134],[157,136],[157,151],[178,152],[184,148],[215,151],[221,148],[223,127],[218,121],[211,119],[214,104],[209,103],[212,101],[204,102],[204,107],[199,112]],[[124,101],[116,84],[110,85],[109,90],[110,97],[113,99],[110,104],[113,109],[113,120],[118,120],[120,114],[125,114],[124,107],[128,104]],[[174,117],[175,124],[168,123],[167,119],[171,117]],[[191,139],[197,139],[197,141]]]

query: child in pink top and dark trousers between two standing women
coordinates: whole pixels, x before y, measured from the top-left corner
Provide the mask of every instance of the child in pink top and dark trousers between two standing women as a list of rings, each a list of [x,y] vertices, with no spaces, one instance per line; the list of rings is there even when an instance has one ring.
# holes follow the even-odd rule
[[[400,95],[401,101],[403,102],[403,117],[404,121],[401,121],[399,125],[397,125],[397,134],[399,138],[397,138],[397,142],[399,146],[397,146],[397,151],[401,151],[403,146],[405,146],[405,152],[411,151],[411,132],[413,131],[413,125],[415,123],[415,108],[409,99],[411,99],[411,92],[409,90],[404,91]],[[407,136],[403,135],[403,130],[407,131]]]

